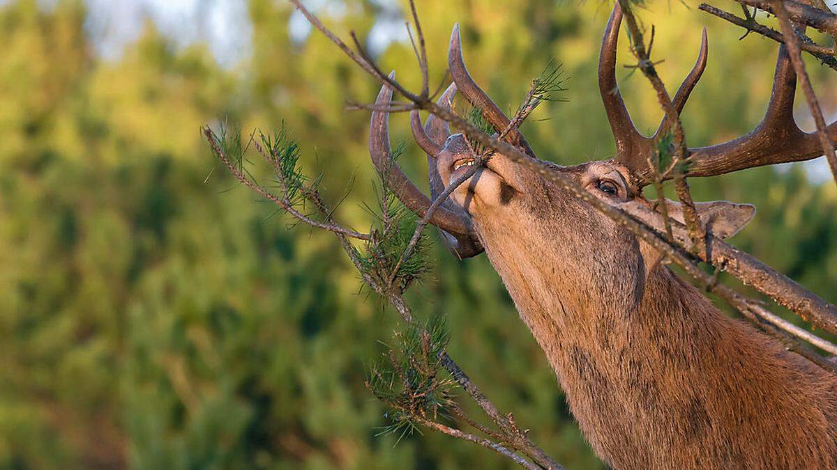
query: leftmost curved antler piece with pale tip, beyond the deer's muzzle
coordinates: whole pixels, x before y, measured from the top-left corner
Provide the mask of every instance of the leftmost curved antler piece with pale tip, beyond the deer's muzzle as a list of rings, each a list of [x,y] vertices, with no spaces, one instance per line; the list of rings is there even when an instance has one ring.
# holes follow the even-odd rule
[[[390,74],[390,78],[394,77],[395,72]],[[372,122],[369,128],[369,156],[372,157],[372,163],[377,170],[383,175],[388,175],[389,186],[398,200],[417,216],[424,217],[431,204],[429,198],[413,185],[413,182],[404,175],[392,159],[392,151],[389,147],[389,113],[380,110],[383,106],[389,105],[392,99],[393,89],[384,84],[375,100],[376,110],[372,111]],[[446,244],[461,258],[470,258],[482,253],[482,245],[470,218],[464,213],[453,212],[448,207],[438,207],[433,212],[430,223],[449,234],[449,237],[446,237]]]

